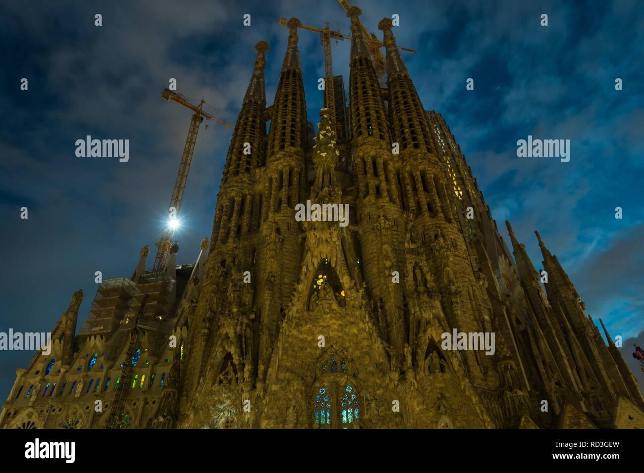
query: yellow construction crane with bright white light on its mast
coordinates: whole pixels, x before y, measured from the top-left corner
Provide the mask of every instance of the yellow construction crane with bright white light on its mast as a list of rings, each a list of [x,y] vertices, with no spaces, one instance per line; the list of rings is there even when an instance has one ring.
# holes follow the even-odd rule
[[[185,182],[188,179],[190,163],[193,160],[194,143],[197,139],[199,125],[201,125],[201,122],[203,122],[205,118],[206,120],[213,120],[214,122],[230,129],[234,129],[234,126],[204,111],[205,101],[203,99],[199,102],[199,105],[194,106],[186,100],[186,97],[183,94],[173,92],[169,89],[164,89],[161,93],[161,98],[166,100],[166,102],[173,100],[174,102],[194,111],[193,118],[190,122],[190,128],[188,129],[188,137],[185,139],[184,154],[179,165],[179,172],[176,175],[175,190],[173,190],[172,198],[170,199],[170,209],[174,207],[176,216],[181,208],[181,201],[184,197]],[[207,126],[208,125],[206,125],[206,127]],[[172,239],[175,236],[175,229],[175,226],[168,225],[166,230],[161,234],[161,239],[156,242],[157,250],[153,272],[163,270],[167,261],[167,255],[172,247]]]

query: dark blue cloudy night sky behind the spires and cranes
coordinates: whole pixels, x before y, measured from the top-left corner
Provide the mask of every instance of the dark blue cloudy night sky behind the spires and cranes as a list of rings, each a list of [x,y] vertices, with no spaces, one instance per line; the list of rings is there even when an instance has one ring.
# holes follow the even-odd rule
[[[509,245],[504,220],[541,268],[534,230],[558,255],[598,323],[644,346],[644,3],[355,0],[363,23],[398,14],[398,44],[426,109],[451,127]],[[94,15],[102,14],[103,26]],[[549,26],[540,26],[540,15]],[[251,26],[243,26],[243,15]],[[234,123],[253,46],[270,44],[272,104],[288,30],[280,17],[350,34],[335,0],[119,3],[5,1],[0,5],[0,331],[51,331],[82,288],[80,329],[94,273],[129,277],[160,236],[191,111],[160,98],[170,78],[193,102]],[[348,85],[349,41],[333,44]],[[300,30],[308,118],[324,76],[316,33]],[[21,91],[22,78],[28,91]],[[475,80],[474,91],[466,79]],[[615,90],[615,79],[623,90]],[[213,111],[216,109],[216,111]],[[178,263],[211,236],[232,132],[202,125],[182,205]],[[129,139],[129,162],[79,158],[86,135]],[[571,140],[571,160],[518,158],[516,141]],[[28,207],[28,219],[20,218]],[[622,207],[623,219],[615,219]],[[0,351],[0,397],[34,352]]]

